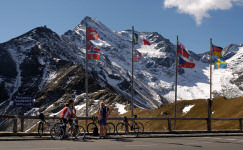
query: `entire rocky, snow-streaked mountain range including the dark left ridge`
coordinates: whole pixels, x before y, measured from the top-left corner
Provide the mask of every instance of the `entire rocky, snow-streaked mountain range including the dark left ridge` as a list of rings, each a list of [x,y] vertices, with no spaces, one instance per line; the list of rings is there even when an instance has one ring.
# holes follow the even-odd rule
[[[132,31],[112,31],[100,21],[86,17],[64,35],[38,27],[0,44],[1,113],[18,112],[12,108],[12,96],[20,92],[35,96],[35,109],[31,111],[58,113],[58,104],[68,96],[77,100],[80,113],[84,111],[86,25],[100,37],[89,44],[102,50],[100,61],[89,61],[91,106],[101,99],[110,104],[130,101]],[[155,108],[173,102],[176,46],[156,32],[135,33],[151,43],[135,46],[143,55],[140,62],[134,63],[135,106]],[[224,49],[228,68],[213,70],[214,96],[243,95],[242,55],[243,45],[231,44]],[[209,55],[191,51],[190,57],[196,67],[179,68],[178,99],[209,98]],[[97,93],[102,94],[95,97]]]

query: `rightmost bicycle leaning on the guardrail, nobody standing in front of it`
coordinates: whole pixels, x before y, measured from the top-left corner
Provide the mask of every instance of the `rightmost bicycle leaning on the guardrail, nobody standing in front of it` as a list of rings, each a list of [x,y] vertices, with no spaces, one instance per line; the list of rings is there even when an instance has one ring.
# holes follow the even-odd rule
[[[133,131],[134,133],[138,134],[142,134],[144,132],[144,126],[141,122],[136,122],[135,119],[137,118],[137,115],[133,115],[134,119],[132,120],[132,125],[130,125],[128,123],[128,119],[125,116],[123,122],[120,122],[116,125],[116,132],[119,135],[122,134],[127,134],[129,133],[129,127],[130,130]]]

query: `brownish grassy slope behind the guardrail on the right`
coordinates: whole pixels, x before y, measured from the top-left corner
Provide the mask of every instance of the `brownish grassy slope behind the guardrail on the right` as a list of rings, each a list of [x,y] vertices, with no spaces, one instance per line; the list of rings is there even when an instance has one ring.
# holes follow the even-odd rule
[[[188,105],[194,105],[189,112],[183,114],[182,110]],[[205,99],[198,100],[182,100],[177,102],[177,117],[196,117],[206,118],[208,117],[208,104]],[[213,100],[212,106],[213,118],[243,118],[243,97],[225,99],[224,97],[218,97]],[[134,114],[138,117],[174,117],[174,103],[165,104],[157,109],[140,109],[135,108]],[[114,109],[112,116],[118,116],[117,110]],[[131,112],[119,116],[131,116]],[[168,130],[167,121],[141,121],[145,125],[146,130],[159,131]],[[206,130],[207,124],[204,120],[178,120],[176,122],[177,130]],[[174,121],[172,121],[172,128],[174,127]],[[212,130],[223,129],[239,129],[239,121],[212,121]]]

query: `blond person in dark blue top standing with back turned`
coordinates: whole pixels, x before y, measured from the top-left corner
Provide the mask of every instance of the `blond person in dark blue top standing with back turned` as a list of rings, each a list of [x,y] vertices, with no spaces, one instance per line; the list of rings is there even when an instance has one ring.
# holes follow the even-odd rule
[[[100,120],[100,138],[101,137],[106,138],[107,137],[106,120],[107,117],[110,115],[111,111],[107,106],[105,106],[104,102],[101,102],[97,113],[99,115],[99,120]]]

